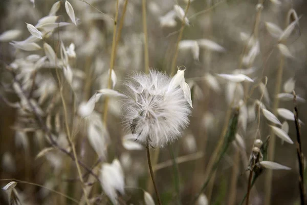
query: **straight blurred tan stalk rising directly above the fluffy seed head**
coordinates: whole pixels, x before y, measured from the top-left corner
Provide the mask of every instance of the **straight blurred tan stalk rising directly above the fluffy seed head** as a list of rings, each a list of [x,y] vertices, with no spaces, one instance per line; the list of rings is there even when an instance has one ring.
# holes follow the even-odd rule
[[[146,20],[146,0],[142,0],[142,18],[143,18],[143,32],[144,32],[145,73],[149,73],[148,33],[147,33],[147,20]]]

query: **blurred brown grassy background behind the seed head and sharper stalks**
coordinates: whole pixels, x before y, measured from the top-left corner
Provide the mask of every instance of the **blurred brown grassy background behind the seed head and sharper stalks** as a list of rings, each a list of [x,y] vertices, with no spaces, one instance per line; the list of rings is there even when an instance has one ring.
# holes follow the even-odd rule
[[[54,50],[58,48],[59,39],[67,48],[71,44],[75,46],[75,56],[71,56],[69,60],[74,76],[71,86],[76,99],[73,99],[68,85],[64,90],[68,107],[72,108],[74,100],[78,106],[82,101],[89,100],[96,90],[106,88],[108,85],[116,1],[70,0],[69,2],[74,9],[77,26],[55,28],[48,35],[46,34],[44,40]],[[187,2],[187,0],[146,1],[150,69],[172,74],[172,60],[183,24],[176,16],[178,14],[170,11],[174,10],[174,5],[179,5],[185,10]],[[45,134],[37,127],[35,120],[31,121],[35,119],[31,113],[25,116],[25,113],[20,112],[20,108],[12,108],[3,100],[5,98],[12,103],[19,101],[18,95],[9,86],[12,76],[6,71],[6,65],[13,66],[12,63],[14,63],[18,66],[18,72],[30,72],[28,78],[23,76],[24,83],[28,81],[32,85],[34,81],[33,99],[40,100],[42,103],[39,106],[48,113],[43,115],[42,119],[46,123],[49,121],[50,129],[53,130],[57,141],[65,147],[67,141],[62,140],[60,136],[65,133],[64,114],[58,94],[55,69],[52,65],[42,65],[42,68],[35,71],[38,77],[33,80],[34,71],[31,70],[31,65],[20,63],[18,59],[26,59],[31,54],[43,56],[43,51],[23,51],[9,44],[11,40],[24,40],[29,37],[30,33],[25,23],[36,25],[39,19],[49,15],[55,3],[54,0],[2,0],[0,2],[0,33],[8,30],[20,31],[15,39],[0,40],[0,60],[2,61],[0,68],[2,96],[0,100],[0,186],[3,187],[10,181],[4,179],[13,178],[42,185],[79,200],[82,189],[77,179],[74,161],[56,149],[37,158],[41,150],[50,147],[49,141],[44,137]],[[72,19],[65,11],[64,3],[65,1],[60,1],[60,7],[54,15],[58,16],[57,22],[72,23]],[[263,8],[259,8],[258,4],[261,4]],[[127,76],[134,72],[144,72],[145,61],[142,1],[120,0],[118,8],[117,32],[121,24],[122,30],[113,69],[117,77],[114,89],[121,92],[124,90],[122,82]],[[284,30],[289,21],[291,23],[291,19],[295,19],[292,17],[293,13],[289,16],[291,9],[300,19],[291,35],[283,42],[292,56],[284,57],[277,48],[278,37],[272,36],[266,23],[271,22]],[[175,199],[178,193],[174,185],[176,181],[179,181],[179,198],[182,204],[188,204],[192,196],[200,190],[208,174],[206,170],[209,159],[225,129],[225,124],[228,124],[227,112],[231,108],[232,100],[237,103],[244,100],[245,116],[239,120],[237,131],[242,140],[236,139],[229,147],[204,193],[209,201],[208,204],[240,203],[247,190],[248,172],[246,170],[255,136],[265,141],[270,134],[268,126],[270,122],[263,115],[259,116],[260,134],[257,134],[255,102],[261,97],[261,89],[257,87],[257,84],[261,81],[264,83],[262,79],[267,76],[268,96],[262,99],[262,102],[269,111],[273,112],[273,102],[276,100],[274,93],[278,84],[277,73],[282,58],[283,73],[278,93],[286,93],[289,89],[284,87],[289,79],[293,78],[295,92],[300,97],[306,98],[306,11],[307,2],[302,0],[191,1],[187,13],[189,24],[185,25],[183,30],[182,43],[179,44],[176,60],[177,66],[186,67],[185,78],[192,90],[193,112],[190,116],[190,126],[172,145],[152,151],[152,157],[156,157],[156,161],[153,160],[154,163],[161,167],[155,174],[163,204],[177,204]],[[190,41],[183,42],[183,40]],[[193,50],[195,47],[191,46],[190,42],[198,43],[196,50]],[[42,45],[41,42],[38,44]],[[258,50],[254,55],[250,50],[256,48],[254,46],[256,44]],[[254,79],[254,83],[240,83],[239,87],[243,89],[240,94],[234,91],[233,85],[215,75],[233,72],[245,73]],[[251,92],[254,85],[256,85],[254,92]],[[44,99],[41,99],[42,95]],[[125,195],[120,197],[119,204],[145,204],[142,189],[155,198],[151,180],[148,178],[145,150],[131,150],[123,145],[122,137],[127,134],[127,130],[122,124],[120,101],[111,98],[108,104],[105,126],[109,136],[105,146],[107,154],[104,158],[100,158],[99,164],[110,163],[114,158],[121,161],[127,188]],[[53,105],[52,108],[50,105]],[[105,100],[100,100],[95,107],[95,111],[101,116],[105,112],[104,105]],[[292,100],[279,100],[278,108],[292,111],[293,107]],[[307,122],[306,104],[299,103],[298,110],[301,121]],[[97,165],[98,155],[97,150],[95,151],[89,142],[87,125],[78,120],[71,111],[68,114],[70,125],[78,128],[75,138],[78,158],[91,168]],[[56,119],[59,121],[56,122]],[[281,122],[284,121],[280,116],[278,119]],[[80,123],[78,124],[77,121]],[[295,141],[294,121],[288,120],[288,124],[289,136]],[[25,131],[26,128],[34,129]],[[303,153],[307,152],[306,131],[306,126],[302,125]],[[183,162],[178,163],[178,172],[176,167],[172,166],[172,155],[183,159]],[[291,170],[273,172],[269,204],[299,204],[298,160],[295,144],[282,143],[279,138],[276,138],[274,156],[275,162],[288,166]],[[99,166],[96,168],[98,169]],[[85,173],[84,170],[82,171]],[[85,181],[87,180],[90,180],[89,177],[85,178]],[[265,204],[266,184],[265,174],[262,174],[252,188],[251,204]],[[91,187],[89,198],[93,204],[111,204],[102,194],[103,191],[98,182]],[[22,204],[75,203],[29,183],[18,183],[16,190],[23,201]],[[0,204],[8,204],[8,195],[3,190],[0,191]]]

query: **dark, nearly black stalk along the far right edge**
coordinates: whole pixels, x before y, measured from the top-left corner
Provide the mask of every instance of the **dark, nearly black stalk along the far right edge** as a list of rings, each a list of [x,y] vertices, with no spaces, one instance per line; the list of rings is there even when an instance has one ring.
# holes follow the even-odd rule
[[[297,151],[297,158],[298,158],[298,165],[299,165],[299,177],[298,177],[298,183],[299,183],[299,191],[300,191],[300,201],[301,205],[305,204],[305,198],[306,198],[306,192],[304,187],[304,155],[302,152],[302,146],[301,146],[301,135],[300,135],[300,124],[299,124],[299,118],[298,118],[298,109],[296,105],[296,94],[293,91],[294,95],[294,121],[295,121],[295,128],[296,128],[296,151]]]

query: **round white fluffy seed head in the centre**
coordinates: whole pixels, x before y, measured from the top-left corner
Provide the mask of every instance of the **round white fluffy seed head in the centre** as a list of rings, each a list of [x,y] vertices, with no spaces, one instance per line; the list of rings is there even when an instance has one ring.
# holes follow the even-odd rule
[[[171,82],[169,76],[151,70],[126,83],[129,94],[123,100],[124,123],[145,145],[164,147],[189,124],[190,106],[180,85]]]

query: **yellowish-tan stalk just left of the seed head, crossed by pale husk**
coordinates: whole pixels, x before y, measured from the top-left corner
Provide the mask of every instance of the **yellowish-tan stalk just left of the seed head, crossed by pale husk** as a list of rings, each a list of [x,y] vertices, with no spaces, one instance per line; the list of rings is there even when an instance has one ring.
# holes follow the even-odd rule
[[[115,44],[116,44],[116,28],[117,28],[117,19],[118,19],[118,4],[119,0],[116,0],[116,10],[115,10],[115,20],[114,20],[114,27],[113,27],[113,40],[112,40],[112,51],[111,51],[111,59],[110,59],[110,70],[109,70],[109,76],[108,76],[108,82],[107,82],[107,88],[111,88],[112,84],[112,70],[114,68],[114,62],[115,62],[115,56],[116,56],[116,49],[115,49]],[[105,97],[105,102],[104,102],[104,109],[103,109],[103,123],[106,124],[106,119],[107,119],[107,109],[108,109],[108,100],[109,98],[106,96]]]

